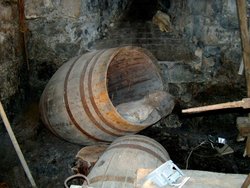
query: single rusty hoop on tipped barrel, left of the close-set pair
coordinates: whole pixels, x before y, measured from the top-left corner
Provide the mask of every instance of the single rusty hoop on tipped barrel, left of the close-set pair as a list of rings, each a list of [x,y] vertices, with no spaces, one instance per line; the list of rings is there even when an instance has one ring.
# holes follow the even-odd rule
[[[71,70],[73,69],[74,65],[76,64],[76,62],[79,60],[81,56],[79,56],[78,58],[76,58],[74,60],[74,62],[72,63],[72,65],[70,66],[67,74],[66,74],[66,77],[65,77],[65,81],[64,81],[64,101],[65,101],[65,107],[66,107],[66,110],[68,112],[68,115],[69,115],[69,118],[70,120],[72,121],[72,123],[75,125],[75,127],[84,135],[86,135],[88,138],[92,139],[92,140],[95,140],[95,141],[100,141],[100,142],[105,142],[104,140],[101,140],[101,139],[98,139],[96,137],[94,137],[93,135],[87,133],[85,130],[83,130],[80,125],[76,122],[70,108],[69,108],[69,101],[68,101],[68,92],[67,92],[67,88],[68,88],[68,79],[69,79],[69,75],[70,75],[70,72]]]

